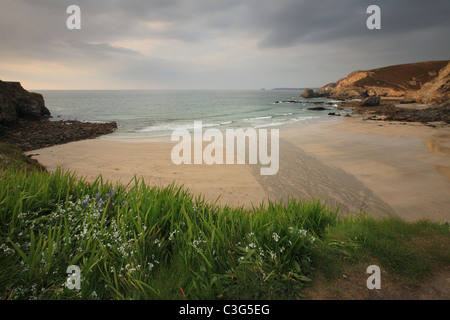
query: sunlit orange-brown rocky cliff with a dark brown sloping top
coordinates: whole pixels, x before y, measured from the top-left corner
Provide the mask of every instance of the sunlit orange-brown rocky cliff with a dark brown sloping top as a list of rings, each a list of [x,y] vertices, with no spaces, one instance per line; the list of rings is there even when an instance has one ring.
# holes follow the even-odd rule
[[[397,98],[427,104],[448,103],[450,61],[429,61],[355,71],[315,92],[332,99]],[[309,92],[310,95],[313,95]]]

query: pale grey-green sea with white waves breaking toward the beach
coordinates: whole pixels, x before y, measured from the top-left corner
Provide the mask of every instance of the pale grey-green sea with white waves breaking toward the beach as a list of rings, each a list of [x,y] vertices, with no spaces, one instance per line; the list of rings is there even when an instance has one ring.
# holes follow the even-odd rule
[[[52,121],[115,121],[112,138],[170,136],[176,129],[282,128],[336,121],[337,103],[299,90],[41,90]],[[331,105],[325,103],[332,102]],[[311,111],[323,104],[328,110]]]

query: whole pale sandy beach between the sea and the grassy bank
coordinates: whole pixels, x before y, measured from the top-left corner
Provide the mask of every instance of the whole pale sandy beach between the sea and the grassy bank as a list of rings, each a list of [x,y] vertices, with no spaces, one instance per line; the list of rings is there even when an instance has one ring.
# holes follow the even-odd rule
[[[170,137],[92,140],[28,152],[49,170],[98,174],[127,184],[175,182],[221,204],[259,205],[288,197],[326,200],[343,214],[365,211],[406,221],[450,220],[450,128],[363,121],[357,117],[280,130],[280,166],[175,165]]]

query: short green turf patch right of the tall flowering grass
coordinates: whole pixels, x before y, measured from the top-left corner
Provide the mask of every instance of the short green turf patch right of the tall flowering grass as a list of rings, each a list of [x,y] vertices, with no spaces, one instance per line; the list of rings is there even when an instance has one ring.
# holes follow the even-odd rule
[[[344,219],[317,242],[314,266],[326,279],[335,280],[361,265],[379,264],[402,284],[418,286],[433,268],[450,265],[449,230],[448,222]]]

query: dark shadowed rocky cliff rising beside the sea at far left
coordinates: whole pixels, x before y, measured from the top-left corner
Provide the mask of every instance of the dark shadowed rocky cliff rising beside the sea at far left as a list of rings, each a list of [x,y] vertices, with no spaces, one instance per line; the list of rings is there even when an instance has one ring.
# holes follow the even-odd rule
[[[50,116],[44,97],[28,92],[19,82],[0,80],[0,123],[17,121],[20,118],[42,119]]]

